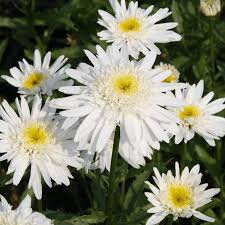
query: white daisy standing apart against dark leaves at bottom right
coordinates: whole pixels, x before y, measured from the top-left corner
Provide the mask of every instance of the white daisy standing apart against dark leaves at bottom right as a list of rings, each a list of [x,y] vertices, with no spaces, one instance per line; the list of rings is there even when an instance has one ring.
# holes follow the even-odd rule
[[[151,189],[145,195],[152,204],[148,213],[153,213],[146,225],[160,223],[167,215],[174,220],[178,217],[189,218],[195,216],[201,220],[214,222],[215,219],[197,211],[198,208],[212,201],[212,197],[219,193],[219,188],[206,190],[208,184],[201,184],[202,174],[200,166],[194,166],[190,171],[185,167],[180,174],[179,164],[175,164],[176,175],[169,170],[167,174],[160,175],[154,168],[154,181],[157,186],[146,181]]]

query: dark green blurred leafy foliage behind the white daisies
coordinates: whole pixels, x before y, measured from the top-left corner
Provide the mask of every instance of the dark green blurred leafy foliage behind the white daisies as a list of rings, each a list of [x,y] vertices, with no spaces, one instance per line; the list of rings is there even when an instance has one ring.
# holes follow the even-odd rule
[[[216,18],[203,16],[198,0],[140,0],[142,7],[155,5],[155,10],[169,7],[173,11],[168,21],[177,21],[177,31],[183,36],[181,42],[160,46],[162,55],[158,62],[175,65],[181,72],[181,81],[196,83],[205,80],[206,92],[214,91],[216,97],[224,96],[225,88],[225,13]],[[224,5],[224,3],[223,3]],[[32,59],[38,48],[42,54],[52,51],[53,58],[67,56],[75,67],[86,61],[83,49],[95,51],[100,42],[96,36],[101,28],[97,25],[97,10],[111,11],[107,0],[0,0],[0,74],[17,66],[23,57]],[[224,10],[223,10],[224,11]],[[13,105],[17,89],[0,80],[0,98]],[[224,116],[224,113],[222,114]],[[133,169],[122,159],[117,166],[114,219],[112,225],[142,225],[149,215],[148,202],[144,196],[144,181],[152,181],[152,167],[161,172],[174,168],[201,165],[203,181],[211,187],[220,187],[221,193],[214,201],[202,208],[215,217],[215,224],[225,224],[225,139],[217,146],[208,146],[196,137],[187,145],[162,144],[152,161],[145,167]],[[27,193],[27,177],[18,186],[4,186],[10,175],[5,175],[7,164],[0,164],[0,193],[16,207]],[[27,174],[28,175],[28,174]],[[55,219],[56,225],[104,224],[103,214],[108,187],[108,173],[100,171],[73,171],[74,180],[69,187],[44,187],[43,200],[34,201],[33,208],[44,210]],[[29,190],[28,190],[29,192]],[[170,224],[171,220],[165,221]],[[197,219],[179,219],[175,224],[208,224]]]

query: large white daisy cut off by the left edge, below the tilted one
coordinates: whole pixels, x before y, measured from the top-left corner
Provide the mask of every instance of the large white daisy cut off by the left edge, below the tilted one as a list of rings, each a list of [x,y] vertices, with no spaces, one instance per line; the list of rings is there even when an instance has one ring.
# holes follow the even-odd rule
[[[7,173],[14,173],[14,185],[31,165],[28,186],[41,199],[42,177],[49,187],[51,179],[69,185],[72,175],[68,166],[80,168],[82,160],[74,151],[73,129],[64,130],[48,101],[41,108],[41,98],[36,96],[31,111],[24,97],[21,102],[16,99],[16,105],[19,115],[6,101],[0,106],[0,161],[10,162]]]

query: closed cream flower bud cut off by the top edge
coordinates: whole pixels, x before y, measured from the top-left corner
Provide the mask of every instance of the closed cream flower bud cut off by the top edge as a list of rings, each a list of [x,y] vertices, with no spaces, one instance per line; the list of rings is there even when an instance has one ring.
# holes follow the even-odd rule
[[[220,0],[200,0],[200,9],[205,16],[216,16],[221,11]]]

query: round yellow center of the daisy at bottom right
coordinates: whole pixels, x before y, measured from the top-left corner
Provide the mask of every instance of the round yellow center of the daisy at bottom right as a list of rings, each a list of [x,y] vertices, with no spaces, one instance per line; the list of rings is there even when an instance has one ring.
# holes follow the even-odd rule
[[[171,184],[166,197],[171,207],[175,209],[186,209],[193,203],[193,193],[187,185]]]

